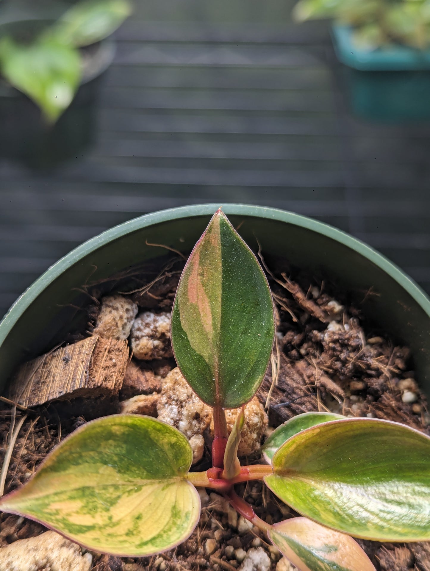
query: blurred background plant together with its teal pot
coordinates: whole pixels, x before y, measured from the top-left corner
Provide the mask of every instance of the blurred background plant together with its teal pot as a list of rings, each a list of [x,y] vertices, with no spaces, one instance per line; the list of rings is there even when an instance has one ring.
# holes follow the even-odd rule
[[[334,18],[351,107],[372,120],[430,117],[430,9],[425,0],[299,0],[294,18]]]

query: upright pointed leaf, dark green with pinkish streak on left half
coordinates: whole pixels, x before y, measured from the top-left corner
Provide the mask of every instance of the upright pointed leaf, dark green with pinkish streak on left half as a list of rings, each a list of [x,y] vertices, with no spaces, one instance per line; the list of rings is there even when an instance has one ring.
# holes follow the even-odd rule
[[[180,371],[211,407],[238,408],[262,383],[274,334],[266,276],[218,210],[176,291],[171,339]]]

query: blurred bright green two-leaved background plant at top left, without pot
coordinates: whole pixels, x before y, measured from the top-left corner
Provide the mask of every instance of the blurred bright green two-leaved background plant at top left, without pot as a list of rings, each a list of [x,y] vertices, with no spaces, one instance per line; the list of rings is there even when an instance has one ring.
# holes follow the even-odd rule
[[[18,22],[21,25],[0,39],[0,73],[54,123],[79,88],[87,46],[108,37],[130,14],[128,0],[90,0],[42,29]]]

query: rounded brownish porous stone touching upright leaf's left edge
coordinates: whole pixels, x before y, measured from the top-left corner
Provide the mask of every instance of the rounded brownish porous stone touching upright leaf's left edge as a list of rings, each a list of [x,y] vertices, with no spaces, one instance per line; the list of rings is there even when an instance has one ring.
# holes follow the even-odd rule
[[[131,328],[130,345],[136,359],[171,357],[170,313],[141,313]]]

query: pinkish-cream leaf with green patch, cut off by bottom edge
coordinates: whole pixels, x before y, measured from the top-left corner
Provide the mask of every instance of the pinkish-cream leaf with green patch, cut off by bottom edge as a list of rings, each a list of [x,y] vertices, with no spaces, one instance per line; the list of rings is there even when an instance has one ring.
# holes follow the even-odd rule
[[[352,537],[306,517],[280,521],[267,534],[299,571],[375,571]]]

